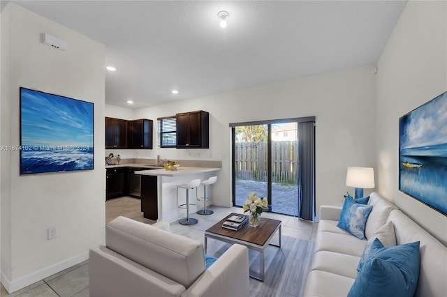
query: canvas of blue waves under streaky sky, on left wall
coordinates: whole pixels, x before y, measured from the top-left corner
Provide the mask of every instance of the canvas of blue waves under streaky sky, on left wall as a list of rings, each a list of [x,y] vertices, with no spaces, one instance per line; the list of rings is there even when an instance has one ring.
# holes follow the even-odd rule
[[[94,169],[94,105],[20,88],[20,174]]]

